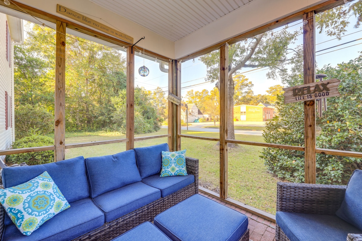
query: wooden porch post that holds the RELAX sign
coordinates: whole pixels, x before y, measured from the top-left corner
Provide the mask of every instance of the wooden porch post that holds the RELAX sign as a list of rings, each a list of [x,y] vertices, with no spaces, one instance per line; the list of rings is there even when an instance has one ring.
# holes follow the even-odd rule
[[[315,82],[315,14],[304,13],[303,72],[304,84]],[[304,172],[305,183],[316,183],[316,110],[315,101],[304,101]]]

